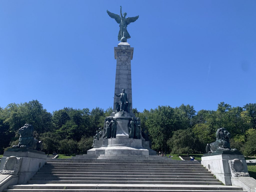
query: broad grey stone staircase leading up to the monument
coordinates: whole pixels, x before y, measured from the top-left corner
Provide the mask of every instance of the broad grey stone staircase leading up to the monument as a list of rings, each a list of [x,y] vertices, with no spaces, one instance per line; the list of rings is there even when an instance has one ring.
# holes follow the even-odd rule
[[[243,191],[223,186],[197,161],[177,161],[150,155],[77,155],[47,159],[25,185],[6,192],[85,191]]]

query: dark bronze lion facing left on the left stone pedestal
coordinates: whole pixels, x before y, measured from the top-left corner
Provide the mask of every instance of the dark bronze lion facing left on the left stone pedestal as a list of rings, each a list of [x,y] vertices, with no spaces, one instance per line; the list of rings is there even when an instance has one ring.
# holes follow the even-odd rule
[[[13,148],[29,148],[37,151],[42,151],[43,144],[41,141],[34,139],[34,127],[29,124],[25,124],[19,129],[19,144],[13,145]]]

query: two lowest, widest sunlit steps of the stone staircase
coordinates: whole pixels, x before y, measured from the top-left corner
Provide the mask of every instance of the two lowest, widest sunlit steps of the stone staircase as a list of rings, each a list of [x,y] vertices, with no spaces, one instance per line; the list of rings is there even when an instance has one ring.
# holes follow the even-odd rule
[[[234,186],[222,186],[222,185],[163,185],[163,184],[25,184],[25,185],[14,185],[9,186],[9,189],[65,189],[65,192],[70,189],[81,190],[81,189],[104,189],[104,190],[204,190],[204,191],[218,191],[229,190],[229,191],[242,191],[240,187]],[[10,190],[6,191],[10,191]],[[226,191],[227,192],[227,191]]]

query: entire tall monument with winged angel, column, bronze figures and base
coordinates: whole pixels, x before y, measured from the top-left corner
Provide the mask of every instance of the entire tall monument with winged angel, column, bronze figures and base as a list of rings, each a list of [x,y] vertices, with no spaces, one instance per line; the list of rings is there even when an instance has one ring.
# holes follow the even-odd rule
[[[114,47],[116,59],[116,76],[114,88],[113,112],[106,117],[103,133],[99,139],[94,139],[93,148],[87,154],[134,154],[134,155],[156,155],[150,149],[150,140],[143,138],[140,118],[132,113],[132,76],[131,60],[133,58],[133,47],[127,42],[131,36],[127,31],[127,25],[135,22],[139,16],[121,17],[107,10],[108,15],[114,18],[120,27],[118,40],[121,42]],[[95,137],[97,138],[97,137]]]

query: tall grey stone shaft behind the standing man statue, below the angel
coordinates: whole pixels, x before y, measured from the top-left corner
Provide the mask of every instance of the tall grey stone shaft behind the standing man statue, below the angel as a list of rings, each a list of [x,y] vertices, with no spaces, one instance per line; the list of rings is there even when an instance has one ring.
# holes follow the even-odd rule
[[[115,74],[115,93],[122,93],[125,89],[130,105],[131,116],[132,113],[132,75],[131,75],[131,60],[133,56],[133,47],[127,42],[120,42],[117,47],[114,47],[116,59],[116,74]],[[120,101],[120,97],[114,95],[113,112],[116,110],[116,102]]]

